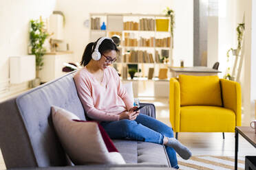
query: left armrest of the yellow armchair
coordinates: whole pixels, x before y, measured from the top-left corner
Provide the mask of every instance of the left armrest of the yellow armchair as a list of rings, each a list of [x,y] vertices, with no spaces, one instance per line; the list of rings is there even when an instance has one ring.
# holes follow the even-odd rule
[[[180,83],[170,79],[169,111],[170,121],[174,132],[180,132]]]

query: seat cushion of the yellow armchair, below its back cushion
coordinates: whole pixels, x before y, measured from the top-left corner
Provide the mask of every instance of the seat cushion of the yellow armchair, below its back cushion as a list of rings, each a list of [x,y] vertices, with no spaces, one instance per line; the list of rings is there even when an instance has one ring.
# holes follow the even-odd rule
[[[216,106],[182,106],[180,132],[234,132],[235,112]]]

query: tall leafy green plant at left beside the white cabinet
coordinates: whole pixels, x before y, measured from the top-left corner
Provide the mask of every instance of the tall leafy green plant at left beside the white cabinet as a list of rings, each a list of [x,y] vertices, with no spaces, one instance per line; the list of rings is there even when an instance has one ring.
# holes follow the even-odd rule
[[[29,53],[36,56],[36,79],[39,79],[39,71],[43,66],[43,55],[45,54],[45,47],[43,43],[49,34],[45,30],[43,21],[30,21],[30,51]],[[40,80],[39,80],[40,82]]]

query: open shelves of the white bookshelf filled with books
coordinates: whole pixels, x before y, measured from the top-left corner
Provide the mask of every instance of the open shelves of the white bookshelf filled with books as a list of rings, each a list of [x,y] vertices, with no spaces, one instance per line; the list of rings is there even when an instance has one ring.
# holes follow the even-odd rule
[[[101,36],[120,36],[120,54],[113,65],[122,80],[131,80],[128,67],[134,67],[138,71],[136,80],[156,81],[160,69],[168,69],[173,64],[169,17],[162,14],[91,13],[90,19],[91,42]],[[100,29],[103,22],[105,30]],[[166,80],[170,76],[168,71]]]

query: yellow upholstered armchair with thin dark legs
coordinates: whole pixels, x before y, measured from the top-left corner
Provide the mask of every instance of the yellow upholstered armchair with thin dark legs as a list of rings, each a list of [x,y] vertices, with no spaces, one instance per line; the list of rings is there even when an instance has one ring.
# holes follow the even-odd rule
[[[185,75],[181,76],[185,77]],[[209,89],[204,91],[202,88],[205,87],[200,86],[202,82],[196,80],[197,77],[185,77],[189,78],[189,80],[195,78],[192,83],[183,81],[184,79],[179,82],[181,77],[179,79],[171,78],[170,80],[169,112],[176,138],[178,138],[178,132],[223,132],[223,138],[224,132],[235,132],[235,126],[241,125],[241,88],[239,83],[223,79],[219,80],[215,76],[217,86],[220,84],[220,101],[217,101],[212,95],[207,96]],[[214,76],[202,77],[212,80]],[[204,80],[203,84],[211,86],[211,81]],[[191,88],[189,90],[193,92],[188,93],[186,87]],[[200,89],[200,93],[203,93],[200,97],[195,95],[196,88]],[[211,93],[216,93],[216,90]],[[198,98],[202,98],[201,101]],[[209,101],[210,104],[207,104],[208,99],[216,100],[217,104],[211,104],[213,100]]]

